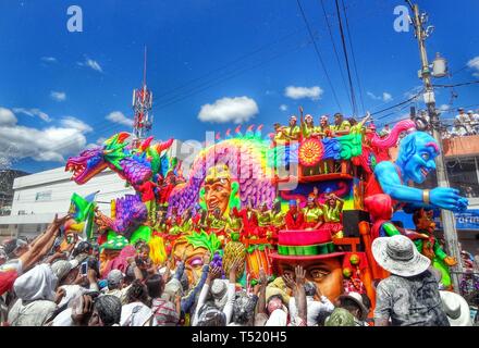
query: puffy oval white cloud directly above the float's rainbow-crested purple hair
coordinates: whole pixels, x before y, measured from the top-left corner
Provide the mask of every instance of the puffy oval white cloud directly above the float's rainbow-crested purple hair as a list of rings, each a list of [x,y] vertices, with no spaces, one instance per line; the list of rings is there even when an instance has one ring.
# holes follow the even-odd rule
[[[198,113],[202,122],[235,124],[248,122],[259,112],[255,100],[248,97],[221,98],[212,104],[205,104]]]

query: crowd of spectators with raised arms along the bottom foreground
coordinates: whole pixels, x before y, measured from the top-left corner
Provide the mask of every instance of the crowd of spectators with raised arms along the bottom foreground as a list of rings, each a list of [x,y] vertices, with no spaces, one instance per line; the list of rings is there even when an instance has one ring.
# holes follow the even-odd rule
[[[238,262],[226,273],[207,253],[201,277],[189,284],[185,257],[155,266],[142,240],[124,247],[101,274],[101,250],[89,241],[72,240],[59,251],[67,219],[56,217],[32,244],[14,238],[2,245],[3,326],[471,325],[467,302],[440,291],[431,261],[402,235],[374,239],[374,259],[391,275],[377,285],[371,315],[367,295],[329,299],[300,265],[277,278],[260,270],[259,282],[243,288]]]

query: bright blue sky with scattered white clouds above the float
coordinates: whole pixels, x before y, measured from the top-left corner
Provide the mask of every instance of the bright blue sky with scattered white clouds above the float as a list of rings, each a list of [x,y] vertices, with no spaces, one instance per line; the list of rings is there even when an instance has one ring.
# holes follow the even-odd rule
[[[323,2],[346,74],[334,1]],[[413,33],[393,28],[394,8],[404,2],[344,2],[365,108],[373,112],[407,99],[421,82]],[[83,10],[82,33],[66,29],[72,4]],[[321,1],[302,4],[341,109],[351,115]],[[419,4],[435,26],[427,42],[430,60],[439,51],[452,72],[464,67],[437,83],[477,79],[479,58],[472,59],[479,57],[479,2]],[[0,156],[15,169],[61,166],[88,144],[130,132],[127,121],[118,121],[132,117],[132,89],[142,85],[145,45],[147,84],[155,97],[152,134],[160,139],[202,141],[206,130],[224,133],[241,121],[265,124],[270,132],[298,105],[315,120],[339,109],[296,0],[11,0],[0,2]],[[456,88],[452,107],[478,104],[478,88]],[[438,105],[450,99],[451,90],[441,89]],[[392,111],[378,123],[400,120],[408,108]],[[111,113],[116,117],[107,119]]]

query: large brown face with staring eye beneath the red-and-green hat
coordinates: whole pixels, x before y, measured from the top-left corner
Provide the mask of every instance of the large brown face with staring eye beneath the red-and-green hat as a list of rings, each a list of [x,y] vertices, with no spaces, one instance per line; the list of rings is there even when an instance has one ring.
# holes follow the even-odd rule
[[[279,260],[279,274],[290,274],[294,278],[294,268],[302,265],[306,278],[314,282],[321,294],[334,301],[343,293],[343,270],[341,257],[316,260]]]

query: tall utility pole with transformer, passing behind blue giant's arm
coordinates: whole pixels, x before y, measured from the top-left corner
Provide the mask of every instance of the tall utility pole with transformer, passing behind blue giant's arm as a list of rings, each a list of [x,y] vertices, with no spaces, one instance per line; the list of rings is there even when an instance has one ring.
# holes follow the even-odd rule
[[[440,121],[439,115],[435,111],[435,98],[434,89],[431,82],[431,71],[428,63],[428,54],[426,52],[426,39],[430,34],[430,28],[425,28],[423,25],[427,22],[427,14],[419,13],[418,4],[412,4],[410,0],[406,0],[414,12],[414,17],[412,18],[416,38],[419,45],[419,57],[421,60],[421,77],[425,85],[426,91],[423,95],[425,103],[428,108],[429,121],[432,126],[432,136],[439,144],[441,153],[435,158],[435,172],[438,177],[439,187],[449,187],[447,172],[444,165],[444,154],[442,151],[442,139],[440,134]],[[457,240],[456,225],[454,213],[450,210],[441,209],[442,226],[444,231],[444,239],[449,254],[457,260],[457,265],[451,268],[451,278],[454,286],[454,291],[459,291],[459,273],[463,272],[463,265],[460,261],[460,249]]]

